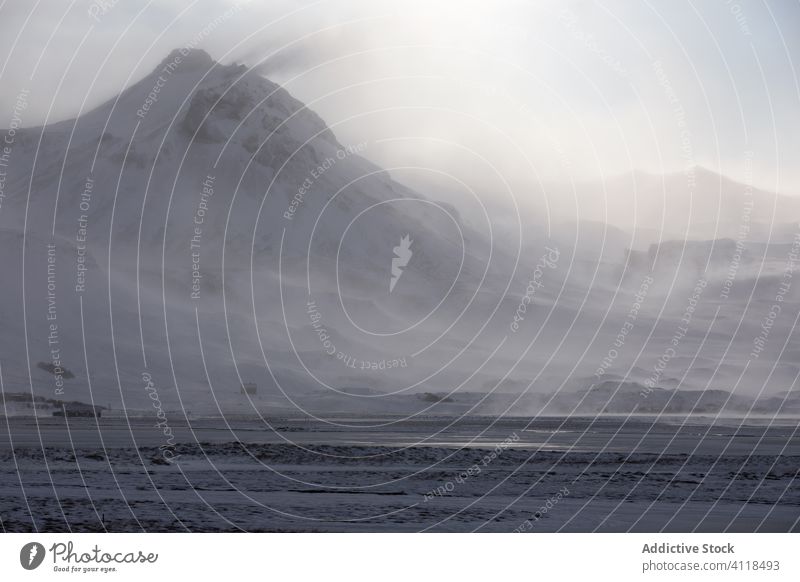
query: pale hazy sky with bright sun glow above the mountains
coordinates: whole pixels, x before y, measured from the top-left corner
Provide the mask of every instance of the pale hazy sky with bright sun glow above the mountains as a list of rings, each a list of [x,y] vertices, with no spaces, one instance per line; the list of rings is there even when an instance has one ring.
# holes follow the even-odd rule
[[[800,194],[797,2],[6,0],[0,28],[0,126],[23,89],[24,125],[74,117],[191,45],[261,64],[388,166],[747,181],[752,158]]]

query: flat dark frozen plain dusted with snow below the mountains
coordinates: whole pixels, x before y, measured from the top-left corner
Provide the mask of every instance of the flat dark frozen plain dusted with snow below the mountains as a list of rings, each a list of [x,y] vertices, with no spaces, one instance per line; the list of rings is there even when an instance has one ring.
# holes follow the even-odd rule
[[[149,421],[3,418],[0,517],[6,531],[799,531],[796,427],[209,419],[173,426],[169,464]]]

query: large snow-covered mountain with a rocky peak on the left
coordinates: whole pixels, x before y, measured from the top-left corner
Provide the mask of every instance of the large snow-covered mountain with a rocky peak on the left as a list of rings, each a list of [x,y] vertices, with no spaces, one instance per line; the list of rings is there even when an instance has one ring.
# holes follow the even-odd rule
[[[170,406],[213,409],[248,404],[242,381],[274,396],[311,390],[304,368],[335,387],[364,377],[355,359],[407,366],[493,251],[368,147],[198,50],[75,120],[18,131],[0,210],[6,384],[30,371],[35,392],[60,392],[35,366],[50,362],[73,374],[65,397],[92,398],[88,376],[104,404],[136,408],[147,373]],[[413,260],[390,293],[404,236]]]

